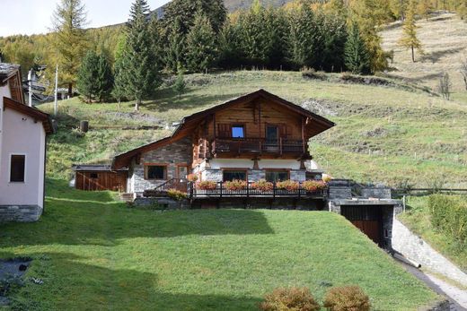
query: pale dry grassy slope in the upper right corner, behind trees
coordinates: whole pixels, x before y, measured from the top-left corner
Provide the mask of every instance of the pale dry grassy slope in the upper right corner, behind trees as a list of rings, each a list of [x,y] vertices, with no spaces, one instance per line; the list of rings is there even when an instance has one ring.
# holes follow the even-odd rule
[[[453,89],[465,91],[459,69],[467,60],[467,23],[454,13],[442,13],[426,20],[420,20],[418,36],[425,54],[417,55],[413,63],[410,51],[401,48],[397,41],[401,38],[401,25],[394,24],[382,32],[383,48],[394,51],[394,71],[390,76],[417,82],[437,90],[440,73],[447,71],[453,82]],[[459,97],[459,95],[461,95]],[[454,94],[466,101],[467,96]]]

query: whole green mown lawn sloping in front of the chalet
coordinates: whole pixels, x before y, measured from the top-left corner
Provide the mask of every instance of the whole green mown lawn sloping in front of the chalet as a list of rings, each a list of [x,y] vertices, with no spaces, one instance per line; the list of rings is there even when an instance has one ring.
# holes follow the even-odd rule
[[[0,257],[34,258],[21,310],[255,310],[279,286],[358,284],[375,310],[436,295],[330,212],[128,209],[111,193],[48,181],[37,223],[0,229]]]

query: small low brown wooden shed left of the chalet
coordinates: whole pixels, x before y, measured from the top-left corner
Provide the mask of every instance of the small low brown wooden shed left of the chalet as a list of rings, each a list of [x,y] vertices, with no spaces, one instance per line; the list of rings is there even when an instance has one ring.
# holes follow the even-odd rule
[[[86,191],[127,192],[128,168],[111,170],[110,165],[74,165],[75,188]]]

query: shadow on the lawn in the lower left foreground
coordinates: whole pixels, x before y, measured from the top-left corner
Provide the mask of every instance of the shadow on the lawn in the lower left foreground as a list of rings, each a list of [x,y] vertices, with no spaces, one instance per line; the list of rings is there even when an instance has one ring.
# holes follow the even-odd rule
[[[43,258],[47,258],[44,260]],[[166,292],[154,273],[84,263],[75,254],[37,255],[27,282],[13,293],[17,310],[254,310],[259,298]],[[175,281],[177,282],[177,281]],[[202,290],[201,290],[202,292]]]

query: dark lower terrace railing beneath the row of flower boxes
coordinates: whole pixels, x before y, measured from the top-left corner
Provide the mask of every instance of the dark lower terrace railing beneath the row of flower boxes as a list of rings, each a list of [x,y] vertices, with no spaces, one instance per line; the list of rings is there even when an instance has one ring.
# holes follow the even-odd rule
[[[306,191],[302,187],[302,183],[299,183],[299,187],[296,190],[289,191],[286,189],[279,189],[276,183],[273,183],[273,187],[270,191],[262,191],[255,189],[251,186],[253,182],[248,182],[247,186],[241,190],[229,190],[225,188],[224,183],[218,182],[215,189],[203,190],[199,189],[195,183],[189,182],[189,197],[191,198],[202,198],[202,197],[295,197],[295,198],[324,198],[328,196],[328,188],[319,189],[313,192]]]

